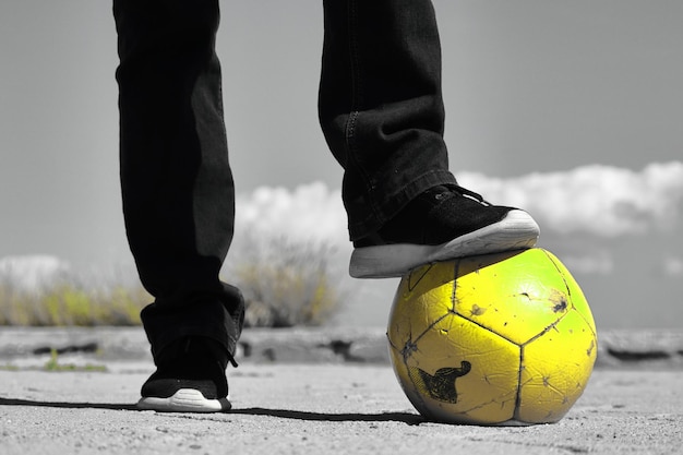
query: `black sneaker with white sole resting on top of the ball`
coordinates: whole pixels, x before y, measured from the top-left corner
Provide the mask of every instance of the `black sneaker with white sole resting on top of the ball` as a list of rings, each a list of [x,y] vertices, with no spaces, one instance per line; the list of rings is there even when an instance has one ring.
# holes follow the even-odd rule
[[[531,248],[538,236],[524,211],[491,205],[462,187],[434,187],[378,232],[354,242],[349,273],[400,277],[433,262]]]

